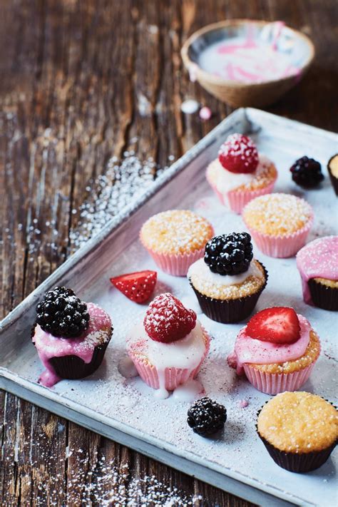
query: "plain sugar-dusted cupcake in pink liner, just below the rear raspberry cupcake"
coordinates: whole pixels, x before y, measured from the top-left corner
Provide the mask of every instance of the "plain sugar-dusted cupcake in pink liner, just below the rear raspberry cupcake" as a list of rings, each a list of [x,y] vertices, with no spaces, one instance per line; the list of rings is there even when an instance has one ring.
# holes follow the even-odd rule
[[[242,217],[261,252],[270,257],[292,257],[305,244],[313,211],[304,199],[276,193],[252,200]]]

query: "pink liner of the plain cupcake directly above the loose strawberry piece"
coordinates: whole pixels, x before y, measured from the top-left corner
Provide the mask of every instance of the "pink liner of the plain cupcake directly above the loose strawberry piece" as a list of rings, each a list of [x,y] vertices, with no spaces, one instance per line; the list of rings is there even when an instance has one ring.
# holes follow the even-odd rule
[[[150,250],[146,245],[143,244],[146,250],[148,250],[151,257],[160,270],[173,275],[174,277],[185,277],[187,276],[189,267],[196,262],[198,259],[203,257],[205,247],[200,250],[195,250],[190,254],[160,254]]]

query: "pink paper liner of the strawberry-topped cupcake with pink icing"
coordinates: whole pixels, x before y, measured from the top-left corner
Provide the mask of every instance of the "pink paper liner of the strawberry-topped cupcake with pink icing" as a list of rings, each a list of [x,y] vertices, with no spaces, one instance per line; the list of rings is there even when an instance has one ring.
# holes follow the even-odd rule
[[[299,387],[305,384],[312,372],[314,363],[315,361],[309,364],[308,367],[299,370],[299,372],[282,374],[260,372],[251,367],[250,364],[244,364],[243,367],[248,381],[255,389],[265,394],[279,394],[284,391],[297,391]]]

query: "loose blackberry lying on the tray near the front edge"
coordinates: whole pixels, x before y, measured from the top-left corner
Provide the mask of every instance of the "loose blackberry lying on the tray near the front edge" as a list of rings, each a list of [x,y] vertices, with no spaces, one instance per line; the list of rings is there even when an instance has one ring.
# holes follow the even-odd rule
[[[188,410],[188,425],[195,433],[202,436],[211,435],[222,429],[227,420],[225,406],[208,397],[195,401]]]

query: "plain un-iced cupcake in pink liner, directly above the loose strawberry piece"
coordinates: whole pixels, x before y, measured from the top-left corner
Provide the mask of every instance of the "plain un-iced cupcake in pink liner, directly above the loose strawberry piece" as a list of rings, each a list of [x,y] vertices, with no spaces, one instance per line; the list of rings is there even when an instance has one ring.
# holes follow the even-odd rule
[[[212,235],[210,222],[188,210],[158,213],[140,230],[140,240],[158,267],[177,277],[185,277],[189,266],[203,257]]]

